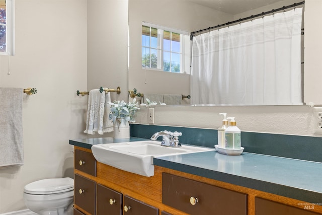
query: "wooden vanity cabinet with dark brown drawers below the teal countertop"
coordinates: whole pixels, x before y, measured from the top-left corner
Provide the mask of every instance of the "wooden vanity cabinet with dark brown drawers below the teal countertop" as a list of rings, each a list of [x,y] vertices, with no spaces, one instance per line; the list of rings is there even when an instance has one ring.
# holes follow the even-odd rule
[[[75,215],[322,214],[319,205],[304,209],[296,199],[164,167],[154,166],[152,177],[137,175],[75,150]]]

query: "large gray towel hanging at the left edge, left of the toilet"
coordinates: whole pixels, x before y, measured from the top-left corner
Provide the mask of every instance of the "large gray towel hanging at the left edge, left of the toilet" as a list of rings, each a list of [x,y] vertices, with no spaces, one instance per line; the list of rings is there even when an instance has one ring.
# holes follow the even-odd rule
[[[22,88],[0,88],[0,167],[24,164]]]

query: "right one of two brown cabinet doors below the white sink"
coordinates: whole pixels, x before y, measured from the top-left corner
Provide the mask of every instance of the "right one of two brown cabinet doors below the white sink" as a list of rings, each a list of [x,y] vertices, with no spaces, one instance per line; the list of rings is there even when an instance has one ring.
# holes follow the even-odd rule
[[[124,196],[124,215],[158,215],[159,210],[129,196]]]

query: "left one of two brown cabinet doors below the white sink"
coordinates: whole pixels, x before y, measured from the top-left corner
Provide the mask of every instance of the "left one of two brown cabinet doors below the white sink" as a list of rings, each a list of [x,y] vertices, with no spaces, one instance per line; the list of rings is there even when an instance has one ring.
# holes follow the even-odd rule
[[[96,187],[96,215],[122,215],[122,194],[101,184]]]

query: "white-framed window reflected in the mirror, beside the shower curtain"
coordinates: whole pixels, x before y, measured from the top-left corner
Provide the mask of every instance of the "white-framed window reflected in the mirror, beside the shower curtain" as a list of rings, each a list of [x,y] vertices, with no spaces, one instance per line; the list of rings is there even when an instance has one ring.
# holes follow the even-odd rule
[[[143,22],[142,67],[185,73],[189,39],[188,32]]]

